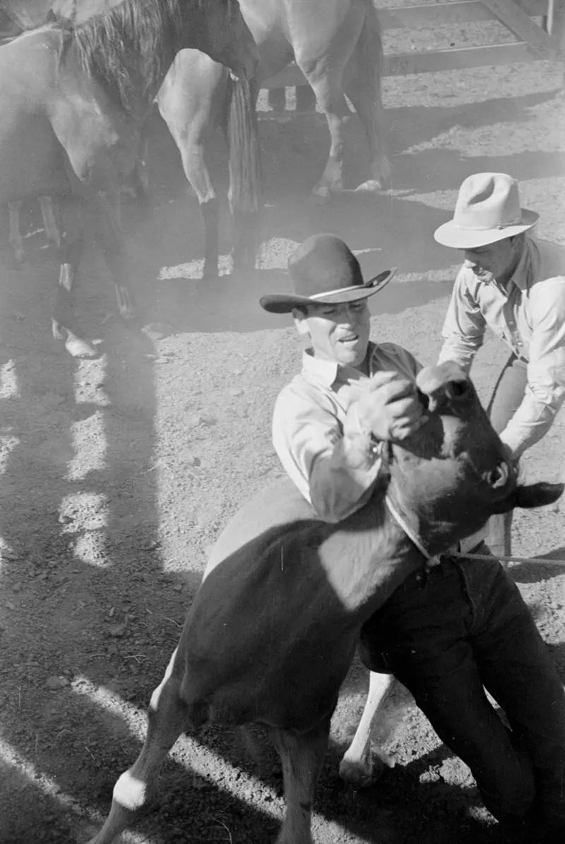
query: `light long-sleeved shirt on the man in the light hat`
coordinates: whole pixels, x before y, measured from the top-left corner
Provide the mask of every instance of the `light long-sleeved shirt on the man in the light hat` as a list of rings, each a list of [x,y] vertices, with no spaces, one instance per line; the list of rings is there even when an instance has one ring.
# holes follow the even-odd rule
[[[501,439],[516,457],[541,440],[565,399],[565,250],[526,237],[507,284],[481,281],[465,265],[455,279],[443,324],[438,363],[465,371],[481,348],[486,327],[527,363],[524,398]]]

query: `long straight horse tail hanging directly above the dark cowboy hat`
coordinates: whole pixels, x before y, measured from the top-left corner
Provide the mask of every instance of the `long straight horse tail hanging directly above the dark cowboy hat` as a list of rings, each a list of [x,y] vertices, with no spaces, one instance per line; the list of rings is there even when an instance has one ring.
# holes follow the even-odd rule
[[[258,251],[261,160],[255,111],[257,91],[247,80],[229,79],[226,135],[229,147],[234,268],[253,268]]]

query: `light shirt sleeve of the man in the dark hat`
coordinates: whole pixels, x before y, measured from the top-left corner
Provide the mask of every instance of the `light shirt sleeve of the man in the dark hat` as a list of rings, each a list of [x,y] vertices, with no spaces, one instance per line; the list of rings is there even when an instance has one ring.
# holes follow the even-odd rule
[[[320,394],[312,403],[291,383],[274,405],[273,444],[286,472],[324,522],[340,522],[370,497],[380,459],[359,428],[355,404],[342,427],[330,398]]]

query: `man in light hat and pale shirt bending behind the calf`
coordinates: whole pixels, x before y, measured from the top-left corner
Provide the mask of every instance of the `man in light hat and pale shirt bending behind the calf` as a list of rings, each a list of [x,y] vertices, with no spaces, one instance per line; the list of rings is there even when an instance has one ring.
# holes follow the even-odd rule
[[[434,233],[464,252],[439,361],[469,371],[487,326],[508,345],[489,414],[515,457],[545,436],[565,398],[565,251],[526,235],[537,219],[520,207],[512,176],[476,173],[459,188],[454,218]],[[492,519],[496,555],[512,553],[511,520]]]

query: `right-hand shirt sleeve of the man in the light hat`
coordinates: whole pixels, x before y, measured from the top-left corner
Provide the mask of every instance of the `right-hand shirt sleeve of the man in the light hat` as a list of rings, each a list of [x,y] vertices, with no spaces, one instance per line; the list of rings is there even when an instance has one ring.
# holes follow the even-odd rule
[[[541,440],[565,399],[565,279],[530,290],[532,334],[524,398],[501,439],[519,457]]]

